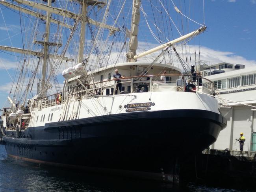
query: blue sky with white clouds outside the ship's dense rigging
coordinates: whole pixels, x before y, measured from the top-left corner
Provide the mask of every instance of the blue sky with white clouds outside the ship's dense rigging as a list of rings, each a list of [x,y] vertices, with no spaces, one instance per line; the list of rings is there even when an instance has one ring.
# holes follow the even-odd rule
[[[142,0],[145,9],[147,9],[146,4],[148,2],[149,0]],[[158,2],[158,0],[152,0],[152,2]],[[188,7],[189,4],[195,4],[194,7],[196,8],[191,9],[190,16],[197,22],[203,23],[203,0],[173,0],[173,2],[177,7],[180,4],[185,5],[185,7]],[[171,7],[171,1],[169,3]],[[0,45],[11,46],[10,36],[13,46],[22,48],[19,14],[6,9],[4,6],[0,7]],[[150,8],[148,6],[148,9]],[[187,12],[188,9],[186,9]],[[184,9],[182,13],[185,13]],[[208,29],[198,36],[195,41],[189,42],[191,53],[195,49],[198,53],[200,49],[201,59],[211,64],[228,62],[244,64],[247,67],[256,66],[256,0],[204,0],[204,15],[205,24]],[[150,21],[152,22],[152,20]],[[21,19],[21,22],[27,21]],[[145,19],[142,14],[140,25],[142,29],[146,28]],[[128,28],[130,27],[128,26]],[[192,25],[189,31],[197,28],[199,26],[196,27],[195,25],[194,27]],[[27,30],[29,28],[22,28],[23,33]],[[150,34],[146,37],[148,42],[156,43]],[[11,81],[17,72],[15,66],[17,66],[17,61],[19,61],[20,57],[0,51],[0,59],[0,107],[3,107],[11,89]]]

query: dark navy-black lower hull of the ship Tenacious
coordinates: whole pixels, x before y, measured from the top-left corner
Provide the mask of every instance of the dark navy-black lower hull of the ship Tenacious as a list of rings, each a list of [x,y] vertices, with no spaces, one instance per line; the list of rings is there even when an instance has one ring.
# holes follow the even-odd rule
[[[225,126],[210,111],[147,111],[48,123],[3,139],[9,157],[24,161],[172,181],[163,175],[176,159],[207,148]]]

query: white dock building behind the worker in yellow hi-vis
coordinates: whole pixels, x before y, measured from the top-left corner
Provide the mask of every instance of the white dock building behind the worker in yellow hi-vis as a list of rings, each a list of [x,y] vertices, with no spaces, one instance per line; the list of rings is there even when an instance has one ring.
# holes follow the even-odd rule
[[[226,99],[220,102],[228,106],[221,107],[227,126],[210,148],[239,150],[236,138],[243,132],[244,151],[256,151],[256,111],[248,106],[256,106],[256,66],[245,68],[245,65],[223,62],[201,65],[200,70],[203,77],[214,82],[219,96]]]

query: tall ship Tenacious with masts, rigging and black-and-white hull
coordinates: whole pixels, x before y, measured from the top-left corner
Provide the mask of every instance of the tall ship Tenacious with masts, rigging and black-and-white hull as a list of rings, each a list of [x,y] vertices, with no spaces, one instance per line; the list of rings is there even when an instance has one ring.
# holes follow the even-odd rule
[[[173,182],[179,159],[215,142],[226,119],[214,83],[180,54],[206,26],[186,35],[178,30],[174,39],[169,8],[190,19],[174,3],[126,3],[0,1],[26,16],[31,28],[24,28],[23,18],[21,32],[32,34],[21,38],[22,48],[0,46],[22,57],[2,114],[9,157]],[[141,14],[160,45],[137,54]],[[156,20],[159,15],[165,20]],[[170,37],[162,37],[165,30]]]

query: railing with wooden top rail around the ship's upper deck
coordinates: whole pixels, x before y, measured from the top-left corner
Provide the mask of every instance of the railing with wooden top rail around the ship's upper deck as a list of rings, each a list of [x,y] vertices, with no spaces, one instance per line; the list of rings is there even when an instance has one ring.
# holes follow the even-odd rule
[[[115,89],[119,84],[117,80],[120,80],[121,81],[120,83],[122,83],[122,85],[125,85],[126,90],[123,90],[122,93],[155,92],[155,91],[159,91],[158,89],[165,89],[169,91],[170,90],[186,91],[185,89],[188,84],[195,85],[199,92],[207,92],[208,94],[214,94],[214,91],[215,91],[214,83],[201,76],[197,76],[195,81],[191,81],[191,75],[165,74],[165,77],[169,77],[169,78],[172,76],[181,76],[182,79],[180,79],[179,82],[182,82],[182,83],[180,85],[177,85],[176,80],[175,81],[167,80],[163,82],[159,79],[160,76],[161,75],[145,75],[145,76],[125,77],[120,79],[110,79],[110,80],[91,83],[90,85],[86,85],[88,87],[87,90],[72,89],[72,87],[70,87],[69,90],[66,90],[63,93],[52,94],[50,96],[42,98],[41,104],[39,105],[41,109],[59,105],[67,100],[68,98],[67,92],[70,92],[70,91],[72,92],[72,96],[76,98],[81,98],[82,96],[88,96],[88,95],[99,95],[99,96],[103,96],[104,94],[106,96],[115,95]],[[141,87],[143,87],[142,85],[145,85],[145,87],[147,87],[147,90],[139,89],[140,85]],[[73,87],[76,87],[76,88],[79,86],[80,84],[73,85]],[[106,89],[108,89],[108,93],[107,92],[104,93],[104,90]],[[61,100],[59,100],[60,94],[61,94]]]

